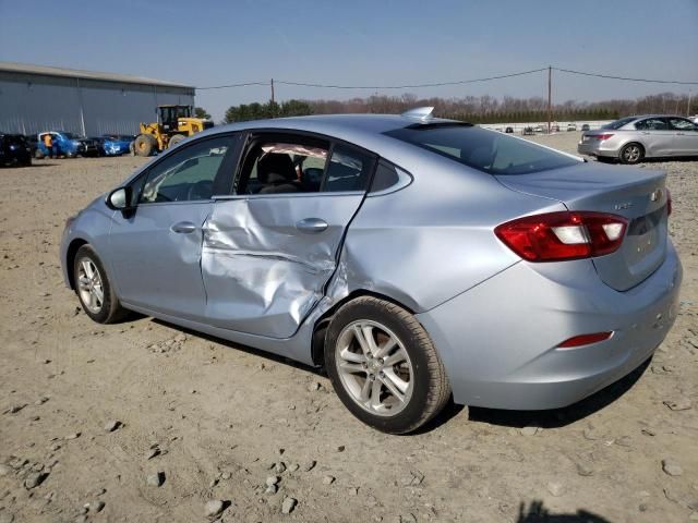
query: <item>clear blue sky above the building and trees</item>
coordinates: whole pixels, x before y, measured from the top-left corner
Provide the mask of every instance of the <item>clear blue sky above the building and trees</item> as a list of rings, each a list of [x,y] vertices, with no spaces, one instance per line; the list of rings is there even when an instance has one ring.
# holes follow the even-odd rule
[[[698,81],[698,0],[0,0],[0,60],[210,86],[270,77],[353,85],[456,81],[549,64]],[[538,73],[418,96],[542,96]],[[555,74],[554,98],[635,97],[687,86]],[[698,95],[698,86],[693,87]],[[381,90],[380,94],[400,94]],[[375,90],[277,86],[277,99]],[[200,92],[216,120],[267,87]]]

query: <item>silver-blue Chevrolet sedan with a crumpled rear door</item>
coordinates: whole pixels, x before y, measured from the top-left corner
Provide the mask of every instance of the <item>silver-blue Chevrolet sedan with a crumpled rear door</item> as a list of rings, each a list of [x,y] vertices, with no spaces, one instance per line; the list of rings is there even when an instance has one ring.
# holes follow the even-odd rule
[[[452,392],[561,408],[648,360],[682,281],[665,174],[430,114],[193,136],[67,221],[65,282],[97,323],[136,311],[324,365],[386,433]]]

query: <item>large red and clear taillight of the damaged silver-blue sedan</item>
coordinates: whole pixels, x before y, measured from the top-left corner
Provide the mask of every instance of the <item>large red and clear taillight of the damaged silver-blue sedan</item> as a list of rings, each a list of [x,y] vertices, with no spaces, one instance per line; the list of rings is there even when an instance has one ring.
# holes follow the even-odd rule
[[[502,223],[494,233],[529,262],[559,262],[611,254],[621,246],[627,220],[589,211],[547,212]]]

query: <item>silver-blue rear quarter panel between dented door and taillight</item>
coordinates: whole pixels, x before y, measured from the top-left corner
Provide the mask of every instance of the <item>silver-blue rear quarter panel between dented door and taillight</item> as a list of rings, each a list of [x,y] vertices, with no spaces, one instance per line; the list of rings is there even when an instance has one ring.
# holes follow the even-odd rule
[[[564,210],[556,200],[516,193],[486,173],[424,155],[406,168],[413,177],[409,186],[365,198],[328,294],[368,290],[412,312],[428,311],[520,262],[495,236],[496,226]]]

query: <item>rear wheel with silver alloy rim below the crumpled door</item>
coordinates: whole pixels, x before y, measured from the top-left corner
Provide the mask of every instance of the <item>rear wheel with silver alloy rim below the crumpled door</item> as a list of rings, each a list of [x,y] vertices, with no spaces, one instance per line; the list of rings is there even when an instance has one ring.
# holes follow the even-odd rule
[[[325,366],[345,406],[384,433],[418,429],[450,398],[446,370],[421,324],[373,296],[337,312],[325,337]]]

